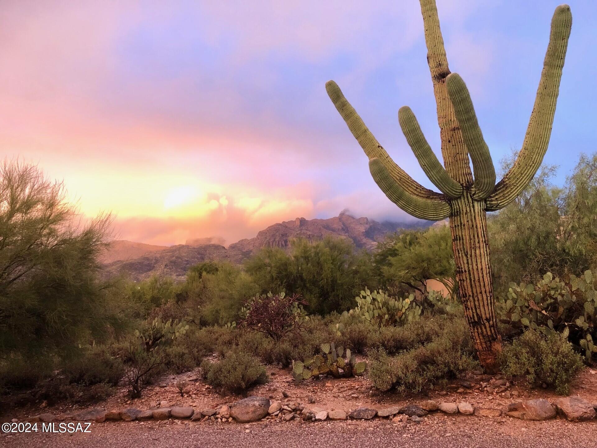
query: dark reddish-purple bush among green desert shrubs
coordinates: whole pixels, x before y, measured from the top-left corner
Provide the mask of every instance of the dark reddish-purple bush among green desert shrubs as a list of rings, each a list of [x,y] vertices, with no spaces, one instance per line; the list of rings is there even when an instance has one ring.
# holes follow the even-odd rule
[[[282,336],[300,331],[304,326],[306,313],[300,295],[287,296],[284,292],[271,292],[251,297],[241,309],[242,327],[264,333],[273,340],[280,340]]]

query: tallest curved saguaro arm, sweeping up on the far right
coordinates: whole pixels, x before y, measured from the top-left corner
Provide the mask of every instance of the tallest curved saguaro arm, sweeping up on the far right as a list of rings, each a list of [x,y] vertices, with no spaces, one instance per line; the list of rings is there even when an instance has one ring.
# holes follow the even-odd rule
[[[497,183],[494,192],[487,198],[487,210],[506,207],[526,188],[537,173],[547,151],[552,132],[553,115],[556,110],[562,67],[572,27],[572,13],[568,5],[560,5],[553,13],[549,45],[543,62],[541,80],[527,134],[516,162]]]

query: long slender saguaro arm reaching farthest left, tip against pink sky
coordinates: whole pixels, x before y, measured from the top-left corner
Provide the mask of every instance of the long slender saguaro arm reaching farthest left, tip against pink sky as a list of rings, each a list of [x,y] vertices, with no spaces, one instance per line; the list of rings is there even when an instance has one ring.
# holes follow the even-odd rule
[[[361,145],[361,148],[365,151],[367,157],[370,159],[380,159],[380,161],[383,162],[383,165],[387,168],[390,176],[400,184],[405,192],[420,199],[442,200],[444,198],[444,195],[424,188],[423,185],[416,182],[416,180],[408,176],[402,168],[395,164],[392,158],[387,154],[386,150],[383,149],[383,146],[381,146],[373,134],[371,134],[371,131],[362,121],[359,114],[356,113],[355,108],[353,108],[344,97],[344,94],[336,82],[326,82],[325,90],[327,90],[334,106],[336,106],[336,109],[340,112],[342,118],[344,118],[350,132],[355,136],[355,139],[359,142],[359,145]]]

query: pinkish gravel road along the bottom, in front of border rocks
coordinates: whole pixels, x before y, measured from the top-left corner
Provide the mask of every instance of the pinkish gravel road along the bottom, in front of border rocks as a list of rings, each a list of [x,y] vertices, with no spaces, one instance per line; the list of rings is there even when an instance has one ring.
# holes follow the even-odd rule
[[[91,434],[0,435],[0,446],[65,448],[597,448],[597,422],[505,422],[476,417],[427,417],[422,424],[275,422],[241,424],[95,424]]]

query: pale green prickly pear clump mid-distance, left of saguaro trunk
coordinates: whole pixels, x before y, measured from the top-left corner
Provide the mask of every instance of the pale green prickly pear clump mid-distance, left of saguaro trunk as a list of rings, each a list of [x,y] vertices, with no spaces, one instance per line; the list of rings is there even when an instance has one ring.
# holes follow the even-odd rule
[[[390,297],[384,291],[373,291],[365,288],[355,297],[356,307],[348,314],[354,314],[378,327],[401,325],[417,320],[421,315],[421,307],[414,301],[414,294],[408,297]]]

